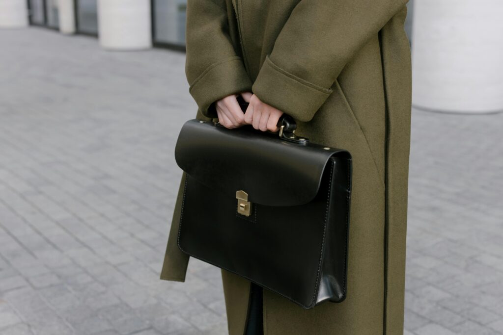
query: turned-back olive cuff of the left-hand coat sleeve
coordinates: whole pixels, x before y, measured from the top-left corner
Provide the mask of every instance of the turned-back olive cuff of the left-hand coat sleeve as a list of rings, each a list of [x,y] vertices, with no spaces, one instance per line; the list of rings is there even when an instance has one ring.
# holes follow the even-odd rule
[[[205,117],[216,118],[213,102],[231,94],[251,92],[251,84],[241,57],[234,56],[206,68],[190,85],[189,92]]]

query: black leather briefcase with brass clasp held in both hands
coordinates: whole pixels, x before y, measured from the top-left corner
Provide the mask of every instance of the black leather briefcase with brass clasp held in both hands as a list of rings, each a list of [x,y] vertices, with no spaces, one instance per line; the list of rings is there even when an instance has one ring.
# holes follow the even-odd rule
[[[175,149],[187,172],[179,248],[304,308],[346,297],[349,152],[190,120]]]

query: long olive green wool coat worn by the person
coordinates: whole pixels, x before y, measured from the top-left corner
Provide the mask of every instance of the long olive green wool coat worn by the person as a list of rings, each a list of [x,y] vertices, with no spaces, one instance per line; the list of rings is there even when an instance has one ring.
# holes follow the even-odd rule
[[[305,310],[264,290],[267,335],[403,333],[411,86],[405,3],[188,2],[186,73],[197,118],[216,118],[214,101],[253,91],[294,117],[296,134],[353,155],[347,299]],[[161,279],[185,280],[188,256],[176,241],[180,205]],[[229,333],[241,335],[249,282],[226,271],[222,278]]]

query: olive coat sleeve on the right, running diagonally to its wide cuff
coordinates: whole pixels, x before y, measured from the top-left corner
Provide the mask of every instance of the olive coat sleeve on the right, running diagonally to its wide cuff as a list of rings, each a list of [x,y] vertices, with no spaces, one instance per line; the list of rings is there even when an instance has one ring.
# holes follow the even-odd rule
[[[264,102],[309,121],[344,66],[407,0],[301,0],[254,82]]]

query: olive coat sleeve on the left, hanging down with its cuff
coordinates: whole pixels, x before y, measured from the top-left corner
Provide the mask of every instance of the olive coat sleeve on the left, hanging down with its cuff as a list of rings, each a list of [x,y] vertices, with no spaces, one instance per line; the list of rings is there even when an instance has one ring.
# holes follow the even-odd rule
[[[229,36],[224,0],[187,2],[186,48],[189,92],[204,116],[217,117],[212,105],[216,100],[251,91],[252,82]]]

